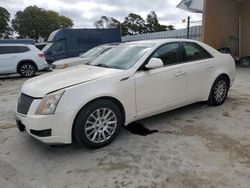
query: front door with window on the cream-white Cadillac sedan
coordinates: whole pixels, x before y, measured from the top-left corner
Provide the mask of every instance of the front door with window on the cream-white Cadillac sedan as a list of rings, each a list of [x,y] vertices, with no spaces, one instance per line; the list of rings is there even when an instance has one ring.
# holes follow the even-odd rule
[[[135,75],[137,115],[145,116],[182,103],[186,97],[185,64],[180,63],[179,43],[161,46],[151,58],[164,67],[139,71]]]

